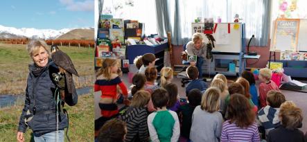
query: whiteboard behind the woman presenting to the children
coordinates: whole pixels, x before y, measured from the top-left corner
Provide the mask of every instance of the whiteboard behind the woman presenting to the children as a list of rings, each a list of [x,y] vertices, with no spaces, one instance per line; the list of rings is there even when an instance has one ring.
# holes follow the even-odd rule
[[[213,33],[213,37],[216,39],[212,51],[225,52],[225,53],[240,53],[242,51],[242,24],[241,23],[214,23],[216,26],[216,32]],[[230,24],[228,33],[228,24]],[[234,27],[234,25],[237,24]],[[208,39],[204,32],[204,23],[192,23],[192,34],[202,33],[202,39],[204,42],[208,42]]]

